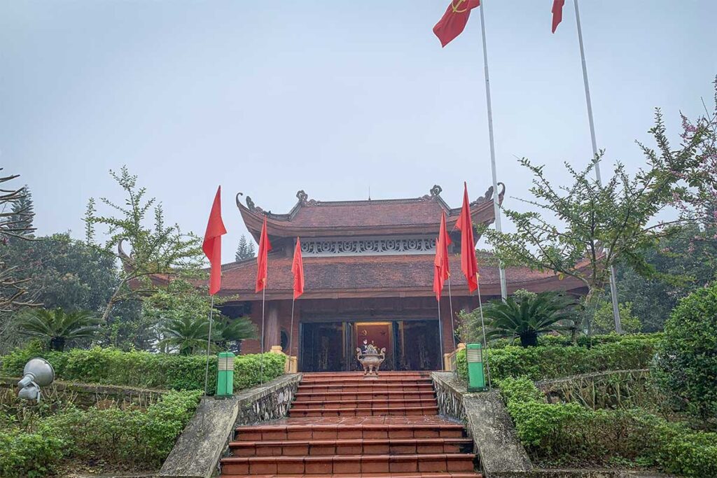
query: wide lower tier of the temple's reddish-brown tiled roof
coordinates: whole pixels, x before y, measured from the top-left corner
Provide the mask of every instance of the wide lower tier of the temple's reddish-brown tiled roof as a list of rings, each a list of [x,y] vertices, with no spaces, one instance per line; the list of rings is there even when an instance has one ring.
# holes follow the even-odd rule
[[[305,295],[331,295],[332,292],[432,295],[433,259],[432,254],[304,257]],[[293,287],[291,263],[290,257],[269,256],[267,296],[290,293]],[[452,255],[450,266],[453,294],[466,295],[460,256]],[[256,261],[252,260],[226,264],[222,267],[222,294],[255,299],[256,271]],[[561,281],[553,273],[531,271],[525,267],[509,267],[506,276],[511,291],[521,288],[574,290],[581,286],[574,279]],[[499,290],[498,269],[480,267],[480,284],[486,294]],[[548,285],[550,287],[546,287]],[[447,290],[444,293],[447,294]]]

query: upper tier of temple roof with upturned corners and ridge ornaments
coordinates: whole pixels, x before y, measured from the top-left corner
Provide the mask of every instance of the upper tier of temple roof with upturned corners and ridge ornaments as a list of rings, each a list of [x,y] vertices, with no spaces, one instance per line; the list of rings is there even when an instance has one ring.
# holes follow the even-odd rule
[[[498,201],[503,202],[505,186],[500,183]],[[460,207],[450,208],[442,199],[442,188],[434,185],[428,194],[406,199],[367,199],[360,201],[318,201],[309,199],[308,194],[297,191],[296,204],[286,214],[265,211],[245,196],[246,206],[239,200],[243,193],[237,193],[237,208],[247,229],[257,238],[264,217],[270,236],[359,236],[366,234],[435,234],[438,229],[440,212],[447,214],[447,224],[455,223]],[[493,211],[493,187],[483,196],[470,203],[471,215],[476,224],[491,224],[495,220]]]

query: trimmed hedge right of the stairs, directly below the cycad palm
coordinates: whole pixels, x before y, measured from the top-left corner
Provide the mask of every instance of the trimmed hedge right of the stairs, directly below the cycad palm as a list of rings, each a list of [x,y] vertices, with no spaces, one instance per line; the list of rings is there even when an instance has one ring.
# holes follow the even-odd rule
[[[592,347],[580,345],[538,345],[490,347],[485,357],[494,380],[526,376],[533,381],[560,378],[578,373],[647,368],[655,355],[660,336],[627,335],[604,340]],[[467,380],[465,350],[456,355],[456,368]]]

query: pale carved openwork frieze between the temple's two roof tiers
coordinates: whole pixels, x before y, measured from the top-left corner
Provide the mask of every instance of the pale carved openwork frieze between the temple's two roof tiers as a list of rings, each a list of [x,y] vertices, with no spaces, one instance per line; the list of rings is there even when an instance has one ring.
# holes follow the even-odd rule
[[[302,240],[301,253],[310,256],[376,256],[391,254],[434,254],[432,237]]]

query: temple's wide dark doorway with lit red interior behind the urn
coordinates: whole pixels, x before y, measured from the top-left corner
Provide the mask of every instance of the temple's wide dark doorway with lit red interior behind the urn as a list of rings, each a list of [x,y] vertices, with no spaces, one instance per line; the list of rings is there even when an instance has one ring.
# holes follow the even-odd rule
[[[359,371],[356,348],[386,348],[383,371],[438,370],[442,363],[438,320],[301,322],[299,370]]]

